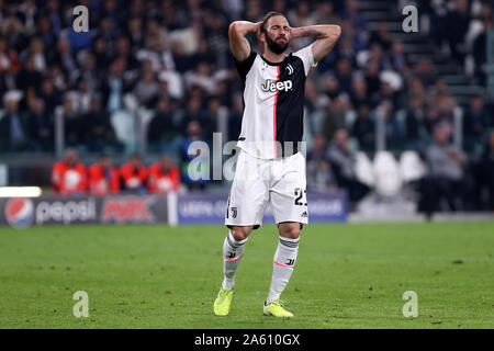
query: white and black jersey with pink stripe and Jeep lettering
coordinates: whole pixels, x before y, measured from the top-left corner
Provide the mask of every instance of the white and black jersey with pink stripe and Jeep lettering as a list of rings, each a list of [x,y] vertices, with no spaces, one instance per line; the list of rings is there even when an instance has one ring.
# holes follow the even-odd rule
[[[244,115],[237,146],[262,159],[294,155],[303,135],[305,79],[315,67],[312,45],[270,63],[250,53],[238,63]]]

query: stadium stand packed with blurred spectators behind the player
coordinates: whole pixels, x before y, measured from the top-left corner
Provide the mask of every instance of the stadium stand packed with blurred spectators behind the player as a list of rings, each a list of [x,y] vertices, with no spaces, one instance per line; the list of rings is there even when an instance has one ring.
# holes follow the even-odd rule
[[[78,4],[89,9],[88,33],[72,29],[72,8]],[[350,200],[360,200],[379,181],[378,174],[362,176],[362,170],[375,168],[370,163],[380,151],[388,151],[396,165],[402,159],[403,180],[430,179],[430,167],[426,174],[414,174],[409,165],[427,165],[434,131],[446,124],[446,143],[464,152],[458,181],[465,192],[458,200],[461,204],[442,210],[493,210],[489,170],[494,113],[486,89],[486,50],[494,1],[417,0],[417,33],[402,29],[405,4],[0,1],[0,163],[9,169],[7,183],[49,188],[52,165],[74,148],[88,167],[102,154],[119,167],[136,152],[147,166],[169,154],[190,190],[226,186],[191,182],[183,174],[190,161],[184,147],[194,139],[212,145],[213,132],[226,136],[223,143],[236,139],[242,86],[227,27],[232,21],[258,21],[277,10],[293,26],[343,27],[335,49],[307,79],[307,155],[316,143],[325,148],[314,155],[314,186],[343,188]],[[306,44],[297,39],[292,49]],[[358,176],[352,180],[340,177],[332,154],[339,129],[348,133],[352,173]],[[322,183],[317,174],[324,176]],[[429,188],[427,181],[417,186],[419,203],[427,204]]]

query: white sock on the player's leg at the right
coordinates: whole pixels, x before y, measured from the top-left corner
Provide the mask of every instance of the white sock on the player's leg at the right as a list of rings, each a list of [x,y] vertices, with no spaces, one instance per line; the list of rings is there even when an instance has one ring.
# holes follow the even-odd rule
[[[290,276],[295,265],[296,254],[299,252],[299,239],[289,239],[280,236],[274,261],[272,264],[272,279],[266,304],[280,298],[281,293],[287,287]]]

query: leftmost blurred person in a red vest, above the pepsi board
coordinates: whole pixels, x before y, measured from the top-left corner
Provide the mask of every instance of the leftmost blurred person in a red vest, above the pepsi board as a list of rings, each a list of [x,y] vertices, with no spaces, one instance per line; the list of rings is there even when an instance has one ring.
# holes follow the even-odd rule
[[[87,190],[85,165],[79,162],[79,155],[67,149],[64,159],[52,167],[53,191],[60,195],[81,195]]]

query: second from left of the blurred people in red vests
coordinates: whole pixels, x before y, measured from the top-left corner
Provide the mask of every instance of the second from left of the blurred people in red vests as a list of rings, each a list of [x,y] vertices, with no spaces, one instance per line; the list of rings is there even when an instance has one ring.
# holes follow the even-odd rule
[[[120,192],[119,169],[112,165],[110,156],[102,155],[100,160],[88,168],[89,192],[104,196]]]

